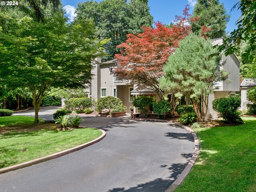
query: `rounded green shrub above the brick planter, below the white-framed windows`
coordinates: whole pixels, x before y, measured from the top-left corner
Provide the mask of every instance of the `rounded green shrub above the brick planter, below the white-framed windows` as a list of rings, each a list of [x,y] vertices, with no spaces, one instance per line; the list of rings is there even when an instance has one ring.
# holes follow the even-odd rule
[[[104,109],[112,110],[116,106],[123,105],[119,98],[113,96],[107,96],[99,98],[97,101],[97,111],[101,112]]]

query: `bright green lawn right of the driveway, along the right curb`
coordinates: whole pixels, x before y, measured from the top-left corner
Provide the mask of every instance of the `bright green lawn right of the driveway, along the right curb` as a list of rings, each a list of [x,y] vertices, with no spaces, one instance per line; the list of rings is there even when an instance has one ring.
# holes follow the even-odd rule
[[[200,154],[175,192],[256,192],[256,118],[195,129]]]

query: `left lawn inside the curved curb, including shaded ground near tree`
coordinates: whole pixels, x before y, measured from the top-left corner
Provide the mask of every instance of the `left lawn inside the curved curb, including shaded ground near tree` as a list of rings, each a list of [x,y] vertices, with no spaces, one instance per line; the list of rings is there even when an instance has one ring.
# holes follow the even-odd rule
[[[13,122],[10,120],[12,117]],[[22,121],[22,118],[17,120],[16,116],[5,118],[0,119],[0,124],[5,122],[12,125]],[[24,118],[23,121],[28,123],[29,119]],[[2,126],[4,134],[0,134],[0,168],[60,152],[94,140],[102,134],[94,128],[58,131],[58,126],[54,123]]]

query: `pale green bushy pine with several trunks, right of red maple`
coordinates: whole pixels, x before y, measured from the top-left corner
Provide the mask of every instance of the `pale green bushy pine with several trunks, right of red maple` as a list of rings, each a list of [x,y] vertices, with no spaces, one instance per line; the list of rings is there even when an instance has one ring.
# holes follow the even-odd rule
[[[204,120],[208,96],[214,91],[214,83],[224,81],[228,72],[222,69],[221,56],[210,57],[217,50],[212,41],[190,33],[179,43],[175,54],[171,54],[164,65],[165,78],[160,79],[164,92],[175,92],[176,97],[188,95],[198,120]],[[201,102],[202,101],[202,102]]]

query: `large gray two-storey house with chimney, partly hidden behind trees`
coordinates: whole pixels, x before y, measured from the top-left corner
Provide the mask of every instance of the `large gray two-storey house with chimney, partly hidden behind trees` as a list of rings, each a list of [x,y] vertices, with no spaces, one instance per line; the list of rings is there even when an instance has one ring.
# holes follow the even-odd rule
[[[224,38],[213,39],[213,44],[222,44]],[[222,56],[222,62],[225,61],[222,68],[228,72],[230,83],[216,82],[214,85],[214,93],[209,96],[208,106],[208,118],[217,117],[217,113],[212,109],[212,101],[222,96],[234,95],[240,91],[239,84],[239,67],[240,61],[235,54],[228,56]],[[129,80],[119,81],[115,78],[112,70],[118,66],[117,60],[110,60],[107,62],[101,62],[100,58],[97,58],[94,62],[95,68],[92,70],[94,76],[92,77],[91,87],[86,91],[88,97],[98,100],[101,97],[114,96],[120,98],[123,104],[126,106],[126,112],[130,112],[129,106],[132,106],[133,97],[139,95],[155,96],[156,100],[159,100],[159,96],[153,90],[137,90],[136,85],[133,85]],[[189,104],[188,96],[184,96],[180,104]]]

